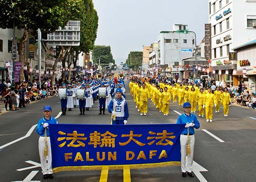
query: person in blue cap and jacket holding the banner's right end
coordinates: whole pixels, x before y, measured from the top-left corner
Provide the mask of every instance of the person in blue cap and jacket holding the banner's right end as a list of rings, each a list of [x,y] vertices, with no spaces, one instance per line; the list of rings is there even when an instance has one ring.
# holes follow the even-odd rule
[[[195,146],[195,131],[194,128],[198,129],[200,123],[197,120],[197,116],[191,114],[191,104],[185,102],[183,104],[184,114],[180,115],[177,120],[177,124],[186,124],[184,130],[181,132],[181,176],[182,177],[194,177],[192,174],[193,166],[193,155]],[[186,156],[187,156],[187,167],[186,167]],[[186,173],[187,172],[187,173]]]

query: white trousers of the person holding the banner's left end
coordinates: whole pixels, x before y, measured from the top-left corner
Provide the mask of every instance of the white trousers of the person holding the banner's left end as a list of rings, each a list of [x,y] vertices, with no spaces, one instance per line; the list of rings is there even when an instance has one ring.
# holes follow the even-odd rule
[[[41,162],[41,167],[42,167],[42,173],[44,174],[52,174],[53,169],[52,169],[52,150],[51,150],[51,142],[50,142],[50,137],[47,137],[47,157],[43,156],[44,152],[44,147],[45,147],[45,142],[44,142],[44,137],[40,136],[38,140],[38,149],[39,149],[39,156],[40,156],[40,162]],[[48,162],[47,162],[48,160]]]

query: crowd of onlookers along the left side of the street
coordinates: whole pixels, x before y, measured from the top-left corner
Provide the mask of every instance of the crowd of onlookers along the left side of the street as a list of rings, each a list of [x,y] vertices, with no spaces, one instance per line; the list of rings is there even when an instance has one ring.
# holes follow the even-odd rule
[[[51,86],[50,80],[43,81],[41,88],[38,80],[32,83],[25,81],[11,84],[9,79],[0,83],[0,101],[5,106],[5,110],[16,111],[26,107],[32,101],[42,100],[57,93],[57,87]]]

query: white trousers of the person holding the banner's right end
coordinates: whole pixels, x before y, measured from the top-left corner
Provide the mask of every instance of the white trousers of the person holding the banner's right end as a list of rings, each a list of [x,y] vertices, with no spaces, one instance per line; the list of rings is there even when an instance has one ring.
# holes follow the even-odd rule
[[[192,172],[195,136],[190,136],[190,154],[187,155],[187,135],[181,135],[181,172]],[[186,166],[187,157],[187,166]]]

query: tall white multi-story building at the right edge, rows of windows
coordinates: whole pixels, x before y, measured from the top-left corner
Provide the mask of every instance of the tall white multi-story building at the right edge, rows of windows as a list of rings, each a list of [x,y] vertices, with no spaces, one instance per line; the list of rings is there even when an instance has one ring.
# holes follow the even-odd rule
[[[211,65],[216,80],[233,81],[237,60],[233,48],[256,39],[256,0],[208,0],[211,24]]]

